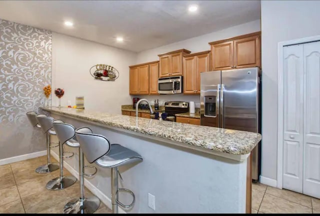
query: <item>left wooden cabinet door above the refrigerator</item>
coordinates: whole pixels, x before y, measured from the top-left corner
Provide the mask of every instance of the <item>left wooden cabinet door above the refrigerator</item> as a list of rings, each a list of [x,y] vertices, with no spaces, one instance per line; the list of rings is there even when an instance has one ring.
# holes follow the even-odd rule
[[[211,45],[212,70],[230,69],[233,66],[233,41]]]

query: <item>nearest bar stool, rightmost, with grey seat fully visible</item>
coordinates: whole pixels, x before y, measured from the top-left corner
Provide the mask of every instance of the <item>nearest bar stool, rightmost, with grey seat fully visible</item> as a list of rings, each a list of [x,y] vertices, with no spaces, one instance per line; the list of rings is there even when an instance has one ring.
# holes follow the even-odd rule
[[[135,201],[134,193],[126,188],[118,188],[118,174],[123,181],[118,167],[121,165],[142,161],[141,155],[119,144],[110,144],[109,140],[98,134],[93,134],[88,127],[75,130],[75,136],[89,163],[95,162],[105,168],[111,168],[111,204],[112,213],[118,213],[118,204],[122,207],[131,207]],[[133,200],[124,205],[118,200],[118,191],[131,193]]]

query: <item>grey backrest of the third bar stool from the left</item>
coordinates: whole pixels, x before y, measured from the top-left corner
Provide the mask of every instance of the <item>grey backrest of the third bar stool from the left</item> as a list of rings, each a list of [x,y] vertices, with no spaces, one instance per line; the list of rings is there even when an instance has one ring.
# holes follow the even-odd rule
[[[62,120],[54,120],[52,123],[56,136],[62,144],[75,137],[75,128],[71,124],[64,123]]]

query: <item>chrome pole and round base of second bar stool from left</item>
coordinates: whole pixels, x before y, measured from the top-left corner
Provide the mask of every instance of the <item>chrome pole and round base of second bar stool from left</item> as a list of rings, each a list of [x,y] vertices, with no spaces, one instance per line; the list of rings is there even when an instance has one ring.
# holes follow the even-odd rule
[[[63,144],[59,141],[60,176],[49,180],[45,187],[49,190],[64,189],[75,183],[74,176],[63,176]]]

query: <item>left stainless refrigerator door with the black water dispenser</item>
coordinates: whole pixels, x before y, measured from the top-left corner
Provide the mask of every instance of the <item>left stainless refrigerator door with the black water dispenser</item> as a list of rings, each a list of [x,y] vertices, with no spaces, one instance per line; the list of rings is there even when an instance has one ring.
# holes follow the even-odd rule
[[[218,127],[219,88],[221,71],[200,73],[200,122],[201,125]]]

